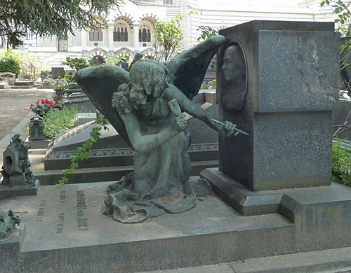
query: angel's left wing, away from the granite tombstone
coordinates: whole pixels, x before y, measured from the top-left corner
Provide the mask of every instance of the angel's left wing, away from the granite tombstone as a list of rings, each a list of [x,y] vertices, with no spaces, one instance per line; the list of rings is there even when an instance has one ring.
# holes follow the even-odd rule
[[[128,83],[129,73],[119,66],[101,65],[80,69],[75,75],[77,83],[93,105],[102,113],[119,135],[131,146],[126,127],[119,113],[112,108],[112,94],[122,83]]]

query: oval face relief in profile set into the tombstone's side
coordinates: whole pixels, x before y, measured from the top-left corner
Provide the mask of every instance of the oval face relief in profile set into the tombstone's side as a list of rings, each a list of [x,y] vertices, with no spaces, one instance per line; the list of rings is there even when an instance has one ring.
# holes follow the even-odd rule
[[[221,104],[225,111],[241,111],[246,102],[247,66],[244,51],[238,43],[228,46],[220,67],[222,75]]]

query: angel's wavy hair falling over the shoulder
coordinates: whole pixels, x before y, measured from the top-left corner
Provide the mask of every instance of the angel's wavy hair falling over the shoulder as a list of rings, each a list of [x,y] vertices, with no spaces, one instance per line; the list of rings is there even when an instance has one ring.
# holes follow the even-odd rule
[[[168,75],[168,69],[151,59],[140,59],[132,66],[129,76],[131,81],[121,84],[112,96],[112,106],[123,113],[131,113],[146,103],[152,89]]]

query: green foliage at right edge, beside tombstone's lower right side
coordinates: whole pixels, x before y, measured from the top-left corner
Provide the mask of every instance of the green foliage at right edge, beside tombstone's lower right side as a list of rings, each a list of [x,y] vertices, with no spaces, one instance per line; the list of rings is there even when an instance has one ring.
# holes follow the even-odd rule
[[[332,178],[333,181],[351,186],[351,148],[346,139],[337,139],[333,142]]]

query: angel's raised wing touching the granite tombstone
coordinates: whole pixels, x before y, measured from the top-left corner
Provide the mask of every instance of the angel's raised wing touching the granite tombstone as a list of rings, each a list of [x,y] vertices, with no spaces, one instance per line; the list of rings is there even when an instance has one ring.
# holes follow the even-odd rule
[[[213,55],[224,42],[225,36],[213,36],[174,57],[166,65],[171,73],[169,83],[192,99],[199,92]]]

